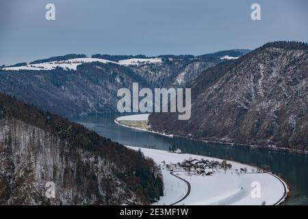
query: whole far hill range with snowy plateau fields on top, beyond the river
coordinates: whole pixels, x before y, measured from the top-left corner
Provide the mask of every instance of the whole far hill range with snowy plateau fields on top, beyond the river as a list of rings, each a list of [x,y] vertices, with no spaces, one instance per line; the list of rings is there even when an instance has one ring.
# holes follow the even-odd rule
[[[203,70],[224,62],[220,55],[226,54],[231,53],[209,59],[189,55],[51,57],[0,69],[0,91],[66,117],[114,112],[118,89],[131,88],[133,82],[140,88],[185,87]]]

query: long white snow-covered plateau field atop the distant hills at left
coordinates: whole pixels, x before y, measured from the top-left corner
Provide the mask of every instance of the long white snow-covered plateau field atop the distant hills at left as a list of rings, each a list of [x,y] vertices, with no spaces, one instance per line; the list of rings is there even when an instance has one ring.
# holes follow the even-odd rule
[[[149,59],[129,59],[129,60],[120,60],[119,62],[112,62],[110,60],[103,60],[99,58],[92,57],[83,57],[76,58],[70,60],[63,61],[55,61],[55,62],[43,62],[39,64],[28,64],[26,66],[17,66],[17,67],[7,67],[3,68],[3,70],[53,70],[57,67],[64,68],[66,70],[77,70],[77,66],[90,63],[90,62],[101,62],[101,63],[114,63],[120,64],[123,66],[129,65],[138,65],[138,64],[159,64],[162,62],[161,58],[149,58]]]

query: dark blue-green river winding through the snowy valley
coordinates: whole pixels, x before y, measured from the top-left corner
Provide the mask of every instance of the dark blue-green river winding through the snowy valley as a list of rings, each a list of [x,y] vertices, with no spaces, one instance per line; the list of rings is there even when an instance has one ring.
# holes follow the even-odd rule
[[[114,118],[118,116],[120,115],[96,114],[81,116],[74,118],[74,120],[85,125],[88,129],[96,131],[101,136],[126,145],[168,150],[169,146],[175,144],[183,153],[218,157],[255,166],[266,164],[270,166],[270,171],[281,175],[290,186],[290,197],[284,203],[285,205],[308,205],[307,155],[197,142],[185,138],[168,138],[116,125]]]

